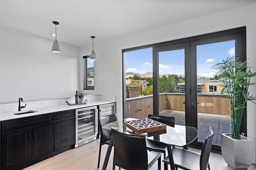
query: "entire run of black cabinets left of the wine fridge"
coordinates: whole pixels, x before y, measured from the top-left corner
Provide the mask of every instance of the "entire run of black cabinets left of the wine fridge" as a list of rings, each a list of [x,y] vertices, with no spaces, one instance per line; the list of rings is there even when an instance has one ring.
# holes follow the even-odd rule
[[[17,170],[74,147],[76,111],[0,122],[0,170]]]

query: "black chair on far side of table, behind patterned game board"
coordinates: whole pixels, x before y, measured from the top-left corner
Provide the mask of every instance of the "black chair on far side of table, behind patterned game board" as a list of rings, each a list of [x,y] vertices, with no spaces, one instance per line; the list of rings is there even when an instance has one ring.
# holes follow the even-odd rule
[[[148,118],[152,119],[154,121],[158,121],[160,123],[164,123],[165,125],[174,127],[174,117],[160,116],[160,115],[148,115]],[[149,151],[164,153],[164,158],[165,158],[165,152],[167,150],[166,144],[157,142],[155,140],[149,140],[149,139],[146,139],[146,144],[147,144],[147,149]],[[165,165],[165,166],[167,168],[167,165]]]

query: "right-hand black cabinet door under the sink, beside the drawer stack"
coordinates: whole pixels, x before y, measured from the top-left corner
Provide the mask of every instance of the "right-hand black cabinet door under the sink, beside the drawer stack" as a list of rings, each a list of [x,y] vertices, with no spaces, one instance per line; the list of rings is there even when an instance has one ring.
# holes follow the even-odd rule
[[[52,156],[54,152],[54,123],[31,127],[32,162]]]

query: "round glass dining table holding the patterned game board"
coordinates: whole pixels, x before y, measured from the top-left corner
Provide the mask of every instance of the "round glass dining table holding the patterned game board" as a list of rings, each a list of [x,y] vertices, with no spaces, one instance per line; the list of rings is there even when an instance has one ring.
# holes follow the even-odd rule
[[[124,119],[123,121],[132,121],[132,120],[138,120],[138,119],[127,118],[127,119]],[[107,130],[111,130],[111,128],[115,128],[120,132],[133,134],[134,132],[131,129],[123,126],[123,121],[122,121],[121,127],[118,121],[114,121],[114,122],[108,123],[102,128]],[[170,155],[172,154],[171,145],[179,146],[179,147],[183,146],[184,148],[187,148],[188,144],[196,140],[198,132],[194,127],[188,127],[188,126],[182,126],[182,125],[174,125],[173,127],[171,127],[166,125],[166,129],[164,130],[142,133],[141,135],[144,135],[147,139],[156,140],[156,141],[167,144],[168,154]],[[106,153],[102,170],[106,170],[106,167],[108,164],[108,159],[109,159],[110,152],[112,149],[112,144],[113,144],[112,137],[110,139],[110,142],[111,143],[108,145],[108,150]]]

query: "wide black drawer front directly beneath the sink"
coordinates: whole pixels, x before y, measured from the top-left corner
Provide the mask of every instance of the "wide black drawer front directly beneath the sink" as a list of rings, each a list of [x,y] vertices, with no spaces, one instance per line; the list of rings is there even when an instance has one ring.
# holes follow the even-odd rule
[[[39,125],[42,123],[49,123],[53,121],[53,113],[23,117],[19,119],[11,119],[7,121],[2,121],[2,132],[23,127],[29,127],[33,125]]]

